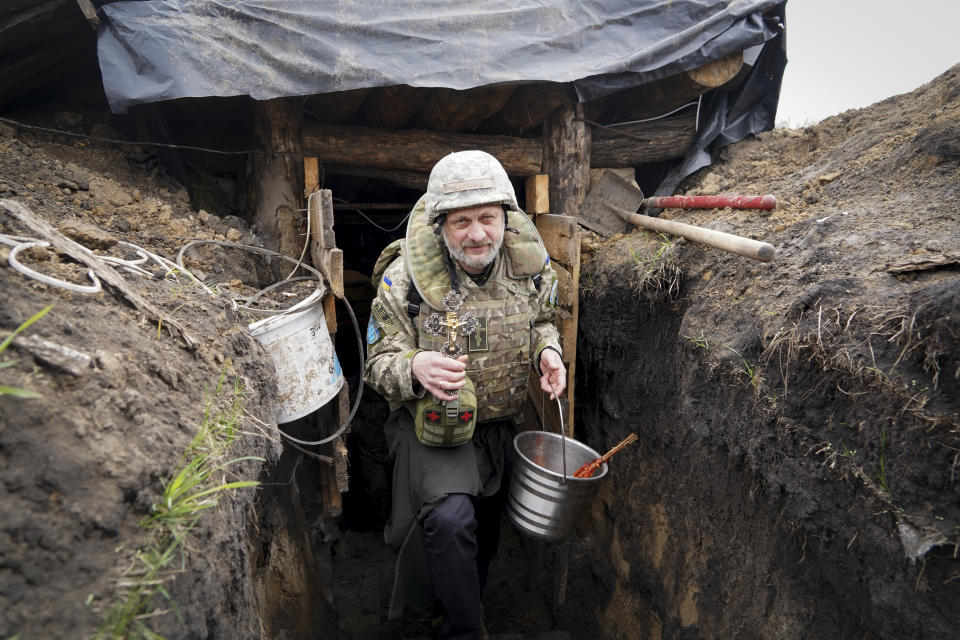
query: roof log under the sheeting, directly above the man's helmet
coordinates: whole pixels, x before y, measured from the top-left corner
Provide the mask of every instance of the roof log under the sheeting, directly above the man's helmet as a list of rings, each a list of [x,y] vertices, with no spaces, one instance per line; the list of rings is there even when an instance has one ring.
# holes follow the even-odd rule
[[[466,91],[432,89],[414,115],[412,126],[432,131],[472,131],[499,111],[514,89],[513,85],[491,85]]]

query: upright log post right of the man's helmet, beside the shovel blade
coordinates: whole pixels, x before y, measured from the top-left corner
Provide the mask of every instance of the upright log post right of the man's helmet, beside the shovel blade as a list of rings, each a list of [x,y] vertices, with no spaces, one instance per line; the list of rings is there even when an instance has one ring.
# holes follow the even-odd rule
[[[590,184],[590,129],[583,105],[556,109],[543,125],[543,173],[550,176],[550,208],[576,214]],[[623,166],[619,164],[617,166]]]

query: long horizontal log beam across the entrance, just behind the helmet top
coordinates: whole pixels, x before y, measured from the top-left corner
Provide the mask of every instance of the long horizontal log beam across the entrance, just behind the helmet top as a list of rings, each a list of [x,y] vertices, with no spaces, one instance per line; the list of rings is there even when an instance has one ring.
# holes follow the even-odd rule
[[[322,163],[428,173],[443,156],[466,149],[486,151],[515,176],[540,173],[543,164],[538,140],[419,129],[304,123],[303,148]]]

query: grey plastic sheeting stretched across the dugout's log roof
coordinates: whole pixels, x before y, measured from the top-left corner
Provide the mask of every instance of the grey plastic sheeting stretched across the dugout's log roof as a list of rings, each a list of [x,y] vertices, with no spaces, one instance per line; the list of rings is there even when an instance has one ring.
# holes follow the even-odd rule
[[[782,0],[780,0],[782,2]],[[111,108],[407,84],[572,83],[581,101],[763,44],[777,0],[146,0],[101,8]],[[779,84],[779,81],[778,81]]]

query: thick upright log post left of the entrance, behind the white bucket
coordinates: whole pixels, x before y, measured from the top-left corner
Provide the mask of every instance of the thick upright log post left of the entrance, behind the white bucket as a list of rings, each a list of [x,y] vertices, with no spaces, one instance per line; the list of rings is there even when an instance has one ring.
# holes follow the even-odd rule
[[[279,154],[252,154],[250,202],[253,229],[268,249],[298,258],[301,253],[298,209],[303,193],[300,104],[295,98],[259,101],[254,131],[264,149]]]

